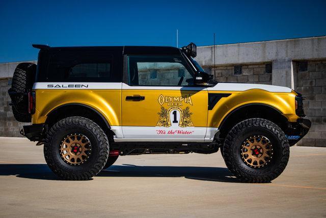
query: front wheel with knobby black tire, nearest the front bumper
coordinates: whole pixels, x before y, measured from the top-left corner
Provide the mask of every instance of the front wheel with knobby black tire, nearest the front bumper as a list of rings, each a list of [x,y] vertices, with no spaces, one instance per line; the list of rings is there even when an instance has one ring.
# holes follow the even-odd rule
[[[269,157],[269,161],[260,167],[256,166],[257,162],[255,162],[256,165],[246,162],[248,156],[244,155],[244,158],[242,156],[246,153],[243,152],[246,149],[242,150],[244,142],[253,137],[261,137],[263,140],[267,138],[266,140],[270,143],[270,147],[267,148],[271,158]],[[256,151],[258,150],[253,150],[253,152]],[[235,125],[228,133],[223,145],[223,156],[227,167],[243,182],[266,183],[274,180],[284,171],[289,154],[289,143],[284,132],[276,124],[261,118],[246,119]]]

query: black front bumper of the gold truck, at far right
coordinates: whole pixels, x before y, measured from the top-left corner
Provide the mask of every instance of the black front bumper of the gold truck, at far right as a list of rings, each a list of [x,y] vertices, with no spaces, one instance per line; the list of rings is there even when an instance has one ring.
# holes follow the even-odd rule
[[[309,119],[300,118],[295,123],[289,123],[285,131],[285,135],[289,141],[290,146],[300,141],[309,131],[311,121]]]

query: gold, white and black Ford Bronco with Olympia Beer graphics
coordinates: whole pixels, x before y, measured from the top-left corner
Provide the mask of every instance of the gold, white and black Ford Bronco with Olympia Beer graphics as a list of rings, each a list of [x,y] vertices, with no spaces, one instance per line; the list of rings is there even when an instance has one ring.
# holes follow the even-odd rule
[[[59,177],[87,180],[119,156],[221,150],[244,182],[269,182],[307,134],[303,96],[290,88],[218,83],[194,43],[50,47],[20,63],[9,95],[20,131]]]

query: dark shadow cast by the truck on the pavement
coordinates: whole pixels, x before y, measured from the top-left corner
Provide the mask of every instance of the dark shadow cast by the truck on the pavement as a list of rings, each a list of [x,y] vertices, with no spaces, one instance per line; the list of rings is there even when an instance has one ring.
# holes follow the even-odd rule
[[[16,176],[28,179],[61,180],[46,164],[0,164],[0,176]],[[97,177],[184,177],[187,179],[240,182],[227,168],[204,166],[137,166],[113,165]]]

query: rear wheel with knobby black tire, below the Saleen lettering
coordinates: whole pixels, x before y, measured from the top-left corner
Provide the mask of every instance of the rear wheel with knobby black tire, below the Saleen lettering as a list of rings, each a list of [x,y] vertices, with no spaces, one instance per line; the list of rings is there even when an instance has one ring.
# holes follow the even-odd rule
[[[80,139],[80,136],[74,138],[74,135],[83,136],[85,139]],[[88,150],[86,151],[89,152],[88,157],[67,160],[70,155],[66,156],[67,159],[63,157],[65,155],[63,150],[68,150],[63,144],[69,144],[68,142],[72,145],[71,152],[81,154],[83,149]],[[86,144],[86,146],[82,148],[80,144]],[[82,148],[80,151],[79,146]],[[44,144],[44,157],[47,165],[53,173],[65,180],[88,180],[94,177],[104,167],[108,152],[108,139],[103,130],[92,120],[79,116],[62,119],[53,125],[48,131]],[[82,163],[74,163],[84,158]]]

